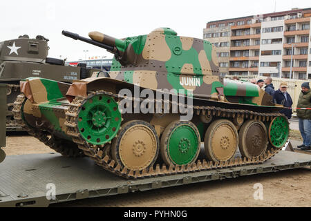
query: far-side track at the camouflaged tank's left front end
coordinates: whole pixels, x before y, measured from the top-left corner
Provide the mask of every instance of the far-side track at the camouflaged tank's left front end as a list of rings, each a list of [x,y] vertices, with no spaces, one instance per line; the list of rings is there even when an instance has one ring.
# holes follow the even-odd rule
[[[23,130],[27,131],[30,135],[37,138],[39,141],[49,146],[51,149],[56,151],[57,153],[61,153],[66,157],[84,157],[83,151],[81,151],[75,144],[70,144],[65,140],[55,140],[53,135],[48,137],[48,133],[44,133],[43,131],[39,131],[35,128],[31,128],[23,122],[21,108],[23,106],[23,102],[25,102],[25,95],[21,94],[17,96],[16,101],[14,102],[13,114],[17,123],[23,128]]]

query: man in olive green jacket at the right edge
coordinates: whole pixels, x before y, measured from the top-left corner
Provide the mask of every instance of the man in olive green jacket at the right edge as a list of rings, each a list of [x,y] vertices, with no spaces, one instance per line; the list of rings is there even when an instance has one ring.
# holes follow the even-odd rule
[[[297,104],[297,117],[299,117],[299,131],[301,137],[303,137],[303,144],[298,147],[301,150],[311,150],[311,110],[298,108],[311,108],[309,82],[301,84],[301,93]]]

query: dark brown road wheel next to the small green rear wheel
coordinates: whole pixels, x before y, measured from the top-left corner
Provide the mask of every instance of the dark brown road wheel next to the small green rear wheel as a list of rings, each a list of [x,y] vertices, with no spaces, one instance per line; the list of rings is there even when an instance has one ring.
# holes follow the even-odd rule
[[[238,132],[238,148],[243,157],[258,157],[267,150],[267,129],[263,122],[248,120]]]

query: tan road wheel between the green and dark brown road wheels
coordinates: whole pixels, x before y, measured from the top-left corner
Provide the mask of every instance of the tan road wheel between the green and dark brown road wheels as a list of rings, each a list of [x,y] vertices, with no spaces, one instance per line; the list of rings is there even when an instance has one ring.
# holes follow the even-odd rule
[[[214,162],[230,160],[238,148],[238,131],[227,119],[211,123],[205,133],[204,148],[207,158]]]

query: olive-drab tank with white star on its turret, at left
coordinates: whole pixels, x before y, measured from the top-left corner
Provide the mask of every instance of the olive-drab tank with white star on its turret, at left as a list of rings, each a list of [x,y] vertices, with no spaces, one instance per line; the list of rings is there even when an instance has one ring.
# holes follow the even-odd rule
[[[13,103],[20,94],[19,81],[27,77],[46,77],[57,81],[72,82],[75,79],[91,77],[94,70],[86,66],[65,66],[65,61],[48,57],[48,39],[28,35],[0,42],[0,83],[8,84],[7,131],[21,129],[12,114]],[[99,70],[97,70],[99,71]],[[56,74],[55,74],[56,73]]]

